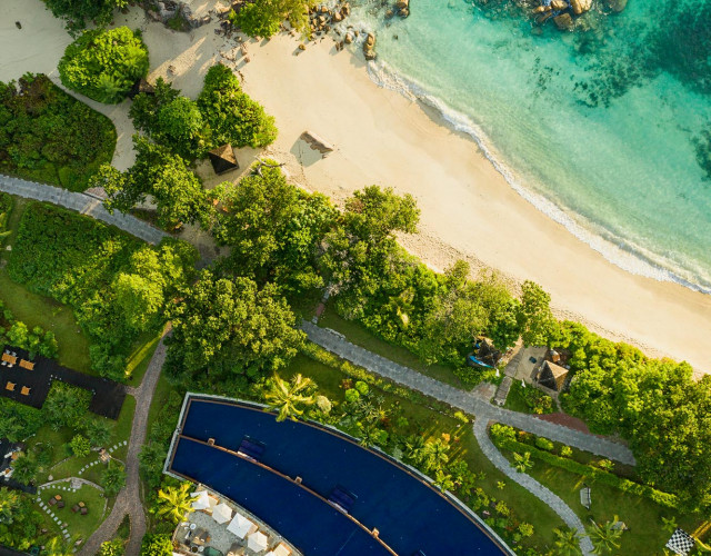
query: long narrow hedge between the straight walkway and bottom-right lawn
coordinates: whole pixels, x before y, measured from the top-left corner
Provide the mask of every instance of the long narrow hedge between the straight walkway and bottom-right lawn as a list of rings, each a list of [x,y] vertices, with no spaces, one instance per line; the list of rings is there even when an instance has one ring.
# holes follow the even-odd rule
[[[638,496],[644,496],[650,500],[659,504],[660,506],[665,506],[668,508],[678,508],[679,500],[677,499],[677,496],[674,496],[673,494],[662,493],[661,490],[657,490],[655,488],[652,488],[650,486],[640,485],[639,483],[634,483],[632,480],[618,477],[612,473],[598,469],[597,467],[592,467],[585,464],[580,464],[578,461],[568,459],[564,457],[555,456],[554,454],[540,450],[533,446],[520,443],[518,440],[512,440],[509,438],[493,438],[493,441],[499,448],[504,448],[504,449],[508,449],[511,451],[518,451],[518,453],[528,451],[529,454],[531,454],[531,457],[540,459],[541,461],[548,465],[560,467],[561,469],[565,469],[567,471],[581,475],[588,480],[601,483],[603,485],[618,488],[623,493],[631,493]]]

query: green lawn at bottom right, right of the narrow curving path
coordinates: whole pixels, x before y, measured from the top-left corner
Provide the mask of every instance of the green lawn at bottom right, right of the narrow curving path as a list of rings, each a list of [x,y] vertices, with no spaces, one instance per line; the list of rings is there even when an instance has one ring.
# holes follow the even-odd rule
[[[503,450],[503,453],[510,460],[513,459],[510,451]],[[603,524],[613,519],[615,515],[619,516],[619,519],[630,528],[622,536],[619,554],[645,556],[664,554],[663,546],[670,534],[662,529],[662,517],[674,516],[679,526],[688,532],[694,532],[700,526],[699,516],[679,515],[654,504],[649,498],[599,484],[590,485],[592,505],[588,512],[580,504],[580,489],[584,480],[580,475],[545,466],[538,460],[528,474],[560,496],[585,526],[590,525],[591,518]]]

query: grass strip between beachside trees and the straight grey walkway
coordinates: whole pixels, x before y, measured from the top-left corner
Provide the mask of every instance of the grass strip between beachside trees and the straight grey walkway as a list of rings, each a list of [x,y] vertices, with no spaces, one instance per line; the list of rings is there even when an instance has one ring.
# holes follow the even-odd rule
[[[423,375],[432,377],[442,383],[447,383],[457,388],[467,389],[461,380],[457,378],[450,367],[444,365],[425,365],[418,356],[400,346],[393,346],[380,338],[375,338],[362,325],[352,320],[346,320],[337,315],[331,305],[328,305],[323,315],[319,319],[319,326],[332,328],[348,338],[348,341],[357,346],[369,349],[373,354],[387,357],[404,367],[410,367]],[[464,361],[462,361],[463,364]]]

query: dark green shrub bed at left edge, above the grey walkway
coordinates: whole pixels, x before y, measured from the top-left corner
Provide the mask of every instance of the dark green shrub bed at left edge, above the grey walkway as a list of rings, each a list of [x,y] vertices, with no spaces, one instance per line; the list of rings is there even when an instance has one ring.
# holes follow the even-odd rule
[[[114,148],[111,120],[47,76],[0,82],[0,172],[83,191]]]

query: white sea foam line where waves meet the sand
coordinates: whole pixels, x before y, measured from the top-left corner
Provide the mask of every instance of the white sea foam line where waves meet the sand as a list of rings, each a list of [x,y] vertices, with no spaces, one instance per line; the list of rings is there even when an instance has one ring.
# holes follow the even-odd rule
[[[453,110],[439,98],[428,93],[419,83],[397,73],[387,62],[380,60],[369,62],[368,75],[379,87],[398,91],[409,100],[417,100],[434,108],[452,129],[469,135],[497,171],[521,197],[549,218],[564,226],[574,237],[598,251],[608,261],[633,275],[658,281],[671,281],[695,291],[711,294],[711,281],[701,278],[701,271],[694,275],[690,270],[679,268],[671,260],[621,237],[613,236],[609,230],[580,215],[571,216],[570,210],[524,187],[514,170],[503,162],[502,157],[487,139],[483,130],[467,115]]]

